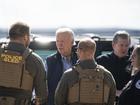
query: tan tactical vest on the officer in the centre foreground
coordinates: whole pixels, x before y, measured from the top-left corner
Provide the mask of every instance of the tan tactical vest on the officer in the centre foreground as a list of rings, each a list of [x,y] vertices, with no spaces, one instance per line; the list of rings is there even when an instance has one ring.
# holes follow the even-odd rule
[[[104,84],[104,71],[99,65],[94,69],[84,69],[77,66],[79,80],[70,87],[68,103],[106,104],[109,97],[109,87]]]

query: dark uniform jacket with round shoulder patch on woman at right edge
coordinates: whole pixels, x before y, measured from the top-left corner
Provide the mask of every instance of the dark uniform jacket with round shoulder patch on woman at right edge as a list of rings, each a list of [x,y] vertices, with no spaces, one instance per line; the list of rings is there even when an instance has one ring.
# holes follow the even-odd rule
[[[119,97],[119,105],[140,105],[140,71],[124,88]]]

